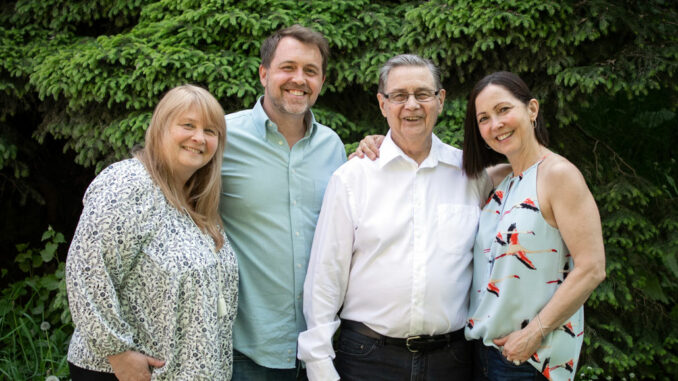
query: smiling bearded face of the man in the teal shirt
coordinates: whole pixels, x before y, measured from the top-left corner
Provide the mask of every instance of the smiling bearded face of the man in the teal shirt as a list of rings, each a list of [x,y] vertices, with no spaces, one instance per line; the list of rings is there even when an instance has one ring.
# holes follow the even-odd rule
[[[322,55],[316,45],[284,37],[278,43],[269,67],[259,67],[264,86],[264,110],[274,122],[302,117],[315,104],[325,76]]]

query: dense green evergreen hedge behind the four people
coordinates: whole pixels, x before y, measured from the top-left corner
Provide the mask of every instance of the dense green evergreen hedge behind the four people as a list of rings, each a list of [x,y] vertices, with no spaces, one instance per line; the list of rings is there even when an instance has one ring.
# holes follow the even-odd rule
[[[261,92],[260,43],[293,23],[330,42],[315,111],[347,145],[386,130],[377,70],[394,54],[441,66],[448,102],[436,132],[455,145],[470,86],[491,71],[519,73],[542,102],[552,147],[580,167],[603,219],[608,279],[587,303],[579,377],[678,375],[674,1],[24,0],[0,5],[0,22],[0,191],[13,216],[40,203],[50,208],[46,187],[34,181],[41,151],[99,170],[142,141],[153,105],[175,85],[202,85],[229,112],[251,107]],[[81,208],[68,207],[76,215]],[[23,259],[3,265],[3,285],[12,282],[3,298],[30,287],[11,278],[29,251],[20,247]],[[31,271],[58,274],[53,263]],[[16,303],[32,303],[29,295]],[[5,299],[1,345],[19,329]],[[26,315],[68,330],[68,314],[32,310]]]

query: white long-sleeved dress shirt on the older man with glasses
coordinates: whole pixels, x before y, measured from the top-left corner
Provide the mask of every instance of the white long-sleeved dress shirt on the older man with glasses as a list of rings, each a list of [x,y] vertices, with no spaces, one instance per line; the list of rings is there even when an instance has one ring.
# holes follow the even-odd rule
[[[304,283],[308,330],[299,359],[310,380],[338,380],[332,336],[341,318],[404,338],[466,322],[472,246],[491,189],[461,169],[461,150],[435,135],[417,163],[387,134],[380,157],[353,159],[325,191]]]

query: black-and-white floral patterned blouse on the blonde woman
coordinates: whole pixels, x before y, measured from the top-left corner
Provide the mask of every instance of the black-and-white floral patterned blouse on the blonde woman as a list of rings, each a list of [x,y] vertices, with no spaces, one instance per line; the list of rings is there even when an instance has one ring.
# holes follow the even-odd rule
[[[133,350],[165,361],[153,380],[230,379],[235,255],[228,241],[215,253],[137,159],[111,165],[87,189],[66,282],[73,364],[112,372],[106,357]]]

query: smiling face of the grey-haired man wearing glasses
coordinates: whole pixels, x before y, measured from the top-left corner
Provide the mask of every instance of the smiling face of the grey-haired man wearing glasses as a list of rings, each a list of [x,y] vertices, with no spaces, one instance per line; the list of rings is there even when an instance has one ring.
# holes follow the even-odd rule
[[[433,74],[425,66],[397,66],[388,73],[385,94],[436,91]],[[443,110],[445,90],[427,102],[409,96],[403,104],[394,104],[383,94],[377,94],[381,113],[391,129],[391,138],[400,148],[429,142],[438,115]]]

